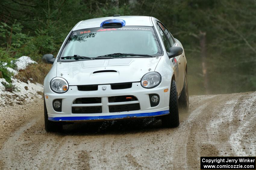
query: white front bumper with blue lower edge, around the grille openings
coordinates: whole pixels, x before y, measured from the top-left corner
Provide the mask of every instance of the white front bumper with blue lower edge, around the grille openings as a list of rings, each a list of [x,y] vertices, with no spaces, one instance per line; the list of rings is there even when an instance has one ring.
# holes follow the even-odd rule
[[[102,87],[106,87],[103,91]],[[170,89],[170,82],[164,81],[152,89],[142,88],[140,82],[134,82],[131,88],[112,90],[111,85],[98,85],[97,91],[79,91],[77,86],[70,86],[69,90],[63,94],[52,92],[50,87],[45,86],[44,92],[48,96],[45,98],[45,104],[50,121],[102,121],[123,118],[141,118],[169,114],[169,97],[170,92],[164,92],[164,89]],[[158,94],[160,102],[157,106],[151,107],[149,94]],[[138,101],[109,103],[108,97],[133,95]],[[100,97],[101,103],[92,104],[73,104],[74,100],[82,97]],[[62,99],[61,112],[53,109],[52,102],[55,99]],[[124,112],[109,112],[109,106],[120,104],[139,103],[140,109]],[[72,113],[74,106],[101,106],[102,113]]]

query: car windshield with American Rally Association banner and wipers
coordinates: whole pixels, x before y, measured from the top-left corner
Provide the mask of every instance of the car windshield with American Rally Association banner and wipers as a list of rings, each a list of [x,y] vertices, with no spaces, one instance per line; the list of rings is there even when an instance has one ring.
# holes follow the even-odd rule
[[[60,57],[96,58],[109,54],[113,57],[127,54],[154,57],[161,55],[161,48],[152,27],[90,28],[73,31]]]

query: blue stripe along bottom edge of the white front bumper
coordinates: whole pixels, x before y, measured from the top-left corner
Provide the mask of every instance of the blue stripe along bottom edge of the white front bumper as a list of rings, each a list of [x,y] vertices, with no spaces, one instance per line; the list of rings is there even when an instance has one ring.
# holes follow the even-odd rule
[[[121,119],[121,118],[133,118],[133,117],[150,117],[168,114],[169,110],[150,112],[150,113],[135,113],[125,115],[108,115],[108,116],[71,116],[71,117],[48,117],[50,121],[83,121],[83,120],[98,120],[98,119]]]

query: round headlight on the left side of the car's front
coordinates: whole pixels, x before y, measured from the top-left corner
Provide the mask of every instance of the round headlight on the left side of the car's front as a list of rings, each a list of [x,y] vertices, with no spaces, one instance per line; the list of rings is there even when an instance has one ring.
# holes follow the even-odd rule
[[[62,77],[54,77],[50,82],[50,87],[55,93],[65,93],[68,90],[68,83]]]

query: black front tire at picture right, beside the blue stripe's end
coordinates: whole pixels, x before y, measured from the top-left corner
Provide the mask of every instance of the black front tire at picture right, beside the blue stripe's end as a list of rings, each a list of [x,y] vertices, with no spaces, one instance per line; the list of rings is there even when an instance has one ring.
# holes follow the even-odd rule
[[[179,103],[178,103],[178,94],[176,88],[175,80],[171,82],[170,88],[170,102],[169,102],[169,111],[168,115],[162,116],[162,125],[164,127],[178,127],[180,124],[179,121]]]

